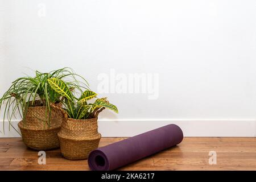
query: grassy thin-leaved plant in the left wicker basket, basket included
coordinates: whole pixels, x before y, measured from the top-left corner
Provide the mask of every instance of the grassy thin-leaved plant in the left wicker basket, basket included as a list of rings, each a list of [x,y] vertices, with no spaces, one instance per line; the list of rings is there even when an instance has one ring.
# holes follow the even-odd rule
[[[0,99],[0,109],[4,107],[3,125],[7,118],[9,127],[15,129],[11,120],[19,114],[22,121],[18,126],[26,146],[34,150],[58,148],[57,133],[65,117],[59,109],[61,96],[49,86],[48,79],[61,78],[70,92],[75,88],[79,91],[88,89],[84,78],[84,82],[81,82],[77,77],[81,76],[73,73],[72,69],[62,68],[49,73],[36,71],[34,77],[16,79]]]

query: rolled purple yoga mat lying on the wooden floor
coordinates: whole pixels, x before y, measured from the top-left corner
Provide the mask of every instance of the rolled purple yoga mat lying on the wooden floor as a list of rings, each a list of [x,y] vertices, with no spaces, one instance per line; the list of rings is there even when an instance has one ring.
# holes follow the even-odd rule
[[[167,125],[90,152],[88,164],[93,171],[110,171],[179,144],[183,132]]]

